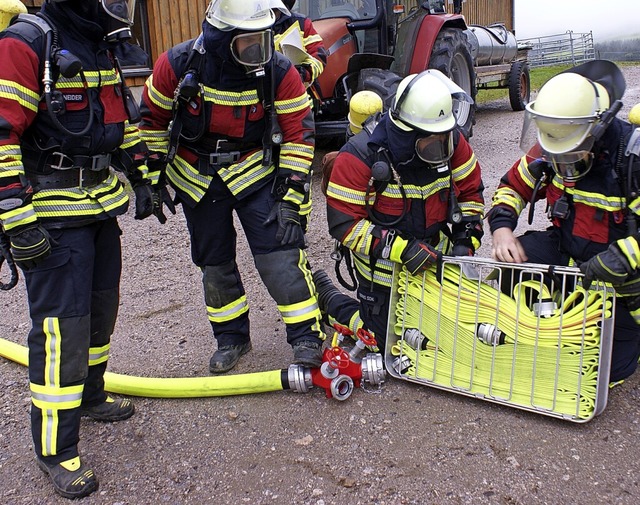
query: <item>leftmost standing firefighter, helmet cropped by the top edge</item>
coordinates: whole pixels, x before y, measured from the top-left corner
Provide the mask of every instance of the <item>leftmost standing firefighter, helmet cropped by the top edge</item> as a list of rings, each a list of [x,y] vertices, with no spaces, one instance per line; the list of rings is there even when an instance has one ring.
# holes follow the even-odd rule
[[[129,201],[110,166],[129,172],[136,217],[153,212],[130,122],[139,112],[111,53],[130,36],[134,7],[49,0],[0,33],[0,222],[28,294],[34,451],[67,498],[98,488],[78,454],[80,417],[134,413],[103,380],[119,304],[116,218]]]

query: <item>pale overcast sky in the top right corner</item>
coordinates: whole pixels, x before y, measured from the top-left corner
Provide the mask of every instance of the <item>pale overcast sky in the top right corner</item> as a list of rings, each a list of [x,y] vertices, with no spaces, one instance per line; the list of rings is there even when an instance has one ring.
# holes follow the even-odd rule
[[[640,36],[640,0],[515,0],[519,39],[573,30],[602,40]]]

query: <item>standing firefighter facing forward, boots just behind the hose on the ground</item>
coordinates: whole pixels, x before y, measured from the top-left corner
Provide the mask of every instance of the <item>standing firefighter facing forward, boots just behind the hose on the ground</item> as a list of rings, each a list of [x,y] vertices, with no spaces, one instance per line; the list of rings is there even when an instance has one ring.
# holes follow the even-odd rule
[[[280,0],[213,0],[201,36],[162,54],[142,95],[141,136],[168,162],[166,177],[203,273],[218,344],[212,373],[231,370],[251,349],[233,211],[282,315],[294,361],[314,367],[322,358],[324,334],[300,217],[313,117],[297,70],[273,51],[270,9],[288,12]]]

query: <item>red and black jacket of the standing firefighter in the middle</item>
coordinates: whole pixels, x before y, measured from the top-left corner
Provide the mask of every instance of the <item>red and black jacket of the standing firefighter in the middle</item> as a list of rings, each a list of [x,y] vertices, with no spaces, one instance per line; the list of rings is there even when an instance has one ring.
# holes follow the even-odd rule
[[[205,21],[204,54],[192,52],[197,39],[163,53],[142,94],[140,135],[151,151],[167,153],[170,123],[176,117],[180,120],[177,154],[166,174],[180,199],[192,207],[212,185],[214,194],[230,193],[242,199],[272,183],[276,170],[282,177],[309,178],[314,124],[298,72],[276,52],[264,77],[247,74],[231,56],[233,33],[215,30]],[[200,92],[181,107],[174,95],[190,72],[196,72]],[[272,90],[273,104],[269,99]],[[277,113],[283,141],[273,160],[264,162],[271,107]],[[305,196],[299,188],[289,187],[280,198],[301,205]]]

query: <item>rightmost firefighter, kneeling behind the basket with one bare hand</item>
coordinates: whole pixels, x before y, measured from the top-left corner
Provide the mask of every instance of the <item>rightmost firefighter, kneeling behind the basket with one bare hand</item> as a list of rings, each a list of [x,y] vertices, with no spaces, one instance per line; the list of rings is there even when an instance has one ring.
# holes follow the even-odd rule
[[[637,156],[625,154],[633,128],[615,117],[624,89],[622,72],[605,60],[547,81],[526,107],[520,142],[525,155],[500,180],[488,213],[495,259],[577,263],[585,285],[593,279],[614,284],[614,383],[635,371],[640,356],[635,196],[640,167]],[[524,207],[543,198],[551,225],[516,237]]]

